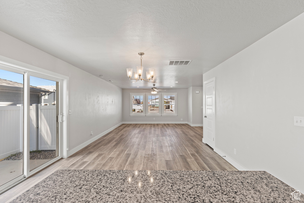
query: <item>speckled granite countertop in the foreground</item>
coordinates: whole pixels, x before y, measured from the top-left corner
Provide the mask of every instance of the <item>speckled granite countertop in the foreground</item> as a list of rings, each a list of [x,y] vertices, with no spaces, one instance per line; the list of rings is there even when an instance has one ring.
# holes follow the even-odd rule
[[[303,202],[293,191],[265,171],[57,170],[12,202]]]

